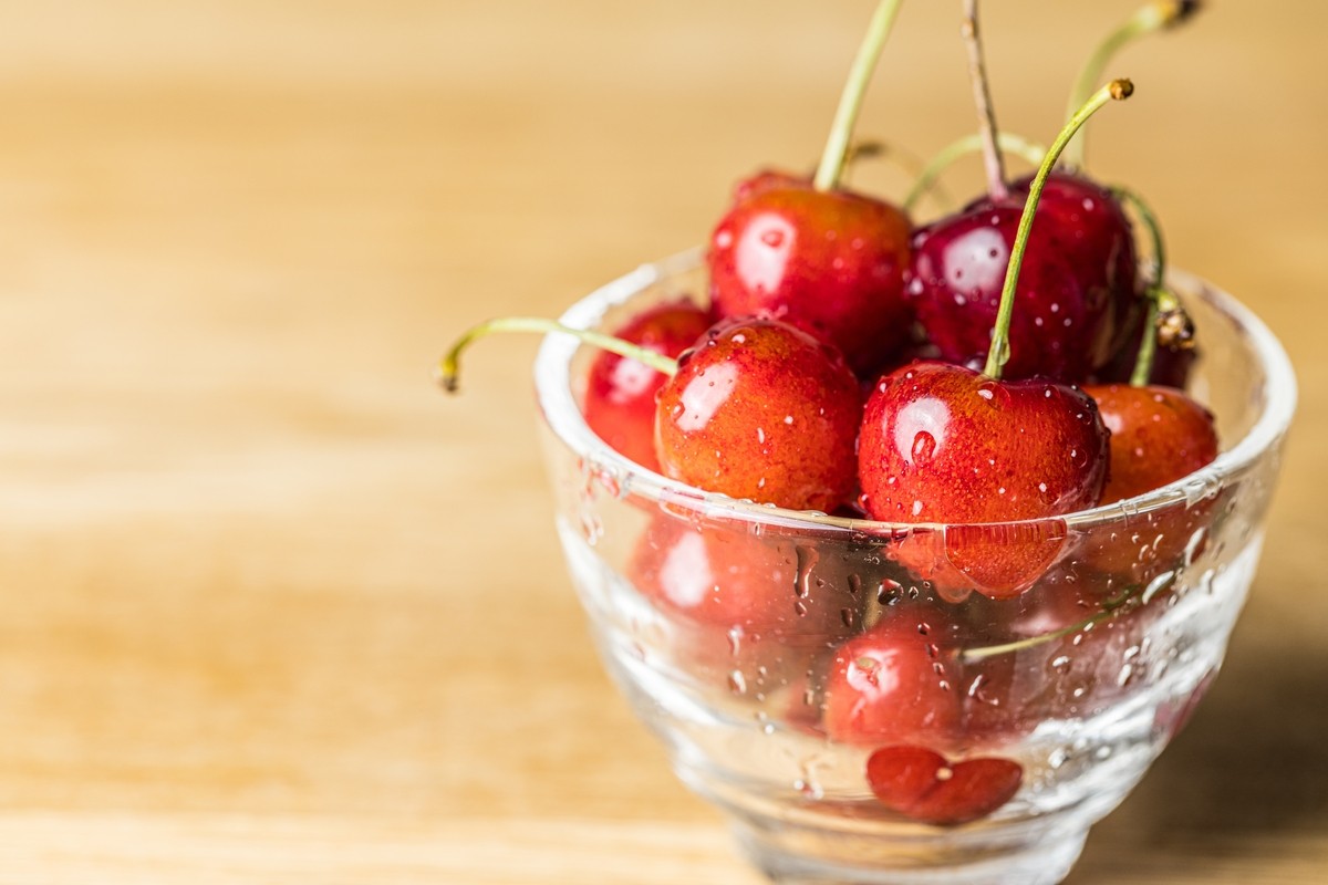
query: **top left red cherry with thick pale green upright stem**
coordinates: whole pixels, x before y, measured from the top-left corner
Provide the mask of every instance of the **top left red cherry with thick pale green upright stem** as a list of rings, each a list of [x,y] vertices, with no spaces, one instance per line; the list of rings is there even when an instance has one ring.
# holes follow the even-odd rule
[[[839,187],[875,61],[899,0],[882,0],[810,182],[762,174],[740,184],[710,236],[710,296],[720,316],[785,320],[839,348],[859,372],[908,334],[910,224],[898,208]]]

